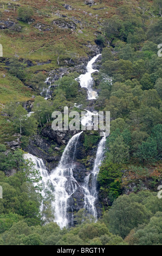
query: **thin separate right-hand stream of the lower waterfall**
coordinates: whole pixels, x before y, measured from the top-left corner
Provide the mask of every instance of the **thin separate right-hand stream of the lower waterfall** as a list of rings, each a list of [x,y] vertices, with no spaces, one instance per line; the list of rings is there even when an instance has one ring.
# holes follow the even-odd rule
[[[97,219],[95,202],[98,197],[98,192],[96,190],[96,180],[97,180],[97,175],[99,173],[99,167],[103,160],[105,142],[106,142],[106,137],[104,136],[98,145],[98,150],[96,152],[96,158],[95,158],[92,173],[86,176],[85,182],[83,184],[83,188],[85,189],[85,209],[87,210],[88,214],[93,215],[95,219]]]

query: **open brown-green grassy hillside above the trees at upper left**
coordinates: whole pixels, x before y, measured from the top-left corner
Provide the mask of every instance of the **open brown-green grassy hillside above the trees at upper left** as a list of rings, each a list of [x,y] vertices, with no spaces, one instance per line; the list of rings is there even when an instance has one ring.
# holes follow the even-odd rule
[[[12,1],[9,5],[8,0],[1,0],[0,11],[2,12],[2,17],[0,20],[10,19],[11,21],[19,23],[22,27],[19,33],[13,32],[10,29],[0,30],[0,44],[3,45],[3,57],[10,59],[17,54],[19,58],[31,60],[34,65],[25,68],[27,78],[39,71],[46,73],[60,68],[60,66],[57,65],[57,56],[55,54],[55,45],[59,44],[59,42],[65,45],[66,50],[75,52],[79,54],[80,57],[87,57],[87,54],[90,54],[90,50],[86,45],[95,44],[94,41],[97,34],[100,33],[103,19],[114,13],[112,0],[105,0],[102,1],[102,3],[100,3],[100,0],[95,0],[95,2],[96,5],[88,7],[84,4],[84,1],[69,0],[67,4],[73,7],[73,10],[69,11],[63,7],[65,1],[28,0],[27,2],[25,0],[19,0],[17,2]],[[20,6],[33,8],[34,22],[29,24],[17,20],[18,7]],[[101,9],[103,7],[104,9]],[[4,10],[9,10],[9,12]],[[59,16],[55,15],[58,11],[61,15],[67,16],[61,18],[65,21],[76,19],[81,22],[76,24],[76,31],[62,29],[53,25],[53,20],[59,18]],[[92,16],[90,16],[89,13],[91,13]],[[49,27],[52,26],[53,30],[39,31],[35,27],[37,23]],[[78,33],[79,29],[83,32],[82,34]],[[61,65],[65,64],[65,59],[69,59],[69,56],[66,54],[60,57]],[[48,62],[48,60],[50,60],[49,64],[37,64],[37,62]],[[5,105],[10,101],[24,102],[30,100],[33,94],[35,94],[34,91],[24,86],[20,80],[8,73],[5,62],[0,62],[0,103]],[[13,137],[15,133],[14,127],[12,127],[12,124],[7,119],[7,117],[3,117],[3,115],[0,114],[1,143],[15,139],[15,137]]]

